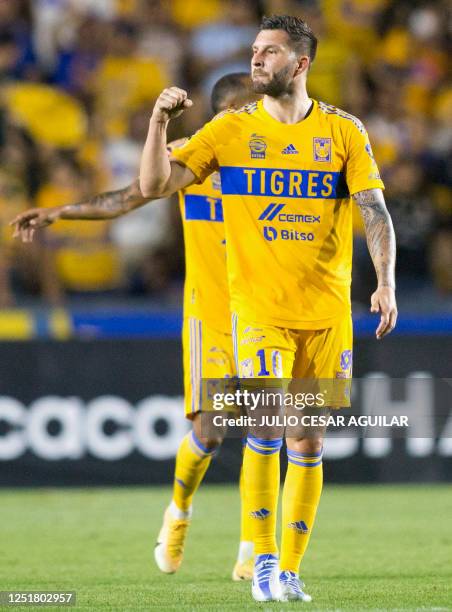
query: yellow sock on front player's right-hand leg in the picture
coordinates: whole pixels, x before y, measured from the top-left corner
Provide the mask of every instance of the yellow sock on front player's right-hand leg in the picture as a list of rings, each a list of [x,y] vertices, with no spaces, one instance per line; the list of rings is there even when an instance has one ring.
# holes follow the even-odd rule
[[[322,452],[287,451],[282,499],[281,571],[298,574],[322,492]]]

